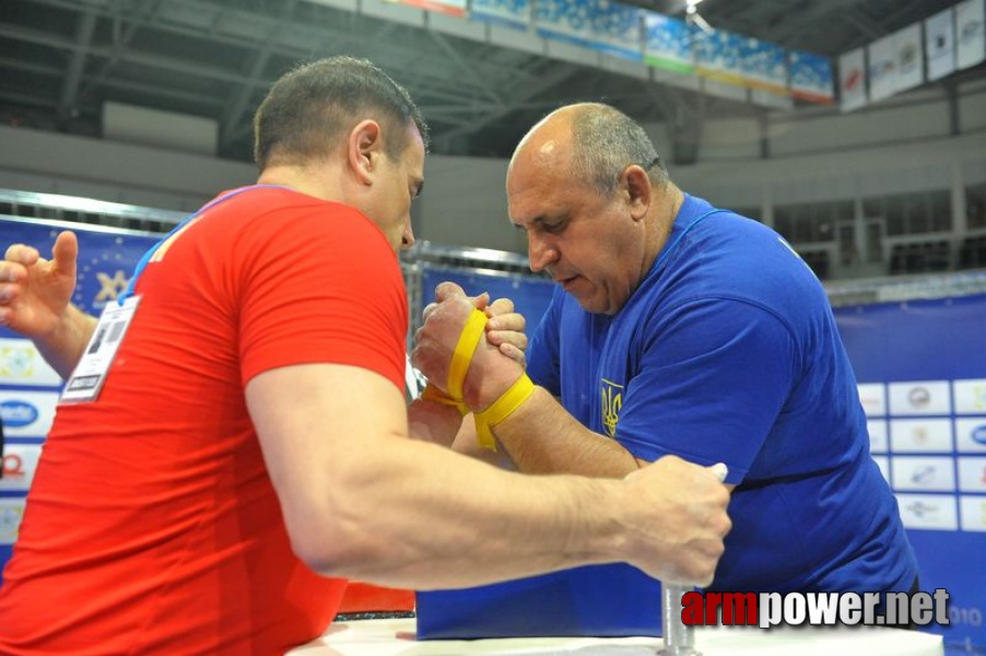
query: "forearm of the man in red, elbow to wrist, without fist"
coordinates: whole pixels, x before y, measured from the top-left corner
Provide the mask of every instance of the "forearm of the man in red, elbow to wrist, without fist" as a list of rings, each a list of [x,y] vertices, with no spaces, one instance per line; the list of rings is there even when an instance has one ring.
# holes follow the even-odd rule
[[[372,469],[386,484],[333,487],[362,493],[337,506],[343,516],[332,525],[362,526],[338,536],[349,547],[336,561],[344,565],[336,571],[336,563],[327,563],[324,573],[421,589],[621,558],[626,536],[613,520],[622,505],[621,481],[520,477],[406,441],[385,448],[388,456]]]

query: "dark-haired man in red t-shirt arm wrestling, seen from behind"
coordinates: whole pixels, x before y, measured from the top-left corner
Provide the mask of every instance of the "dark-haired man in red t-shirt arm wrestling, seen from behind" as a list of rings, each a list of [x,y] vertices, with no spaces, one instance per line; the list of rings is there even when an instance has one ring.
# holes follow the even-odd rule
[[[322,60],[274,84],[255,129],[258,183],[149,253],[122,338],[101,327],[91,344],[68,304],[70,236],[50,262],[13,247],[0,266],[0,325],[62,375],[119,340],[98,396],[59,406],[0,588],[0,653],[280,654],[326,629],[347,577],[460,587],[626,561],[707,583],[729,520],[706,469],[528,477],[427,443],[459,415],[402,394],[396,254],[427,139],[407,92],[365,60]],[[523,376],[483,339],[460,373],[479,408]]]

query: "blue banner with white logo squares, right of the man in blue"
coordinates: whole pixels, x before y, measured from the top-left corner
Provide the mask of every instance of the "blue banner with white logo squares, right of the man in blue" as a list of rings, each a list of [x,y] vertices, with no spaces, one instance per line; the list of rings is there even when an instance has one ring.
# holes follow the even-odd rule
[[[844,307],[873,458],[901,506],[920,587],[949,593],[947,644],[986,646],[986,295]]]

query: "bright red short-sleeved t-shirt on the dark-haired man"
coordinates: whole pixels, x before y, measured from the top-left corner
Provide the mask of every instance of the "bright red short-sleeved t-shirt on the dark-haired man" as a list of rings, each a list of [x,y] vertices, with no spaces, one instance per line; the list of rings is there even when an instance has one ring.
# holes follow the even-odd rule
[[[403,389],[397,258],[351,208],[255,188],[179,233],[137,293],[98,400],[58,409],[0,653],[281,654],[326,629],[345,582],[292,552],[244,387],[332,362]]]

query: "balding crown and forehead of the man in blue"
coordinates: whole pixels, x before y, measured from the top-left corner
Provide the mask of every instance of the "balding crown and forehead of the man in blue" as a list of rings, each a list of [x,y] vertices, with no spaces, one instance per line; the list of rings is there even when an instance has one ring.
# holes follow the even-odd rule
[[[647,169],[658,186],[668,179],[650,138],[629,116],[601,103],[566,105],[538,121],[517,144],[507,192],[515,167],[537,166],[564,171],[573,181],[608,196],[629,164]]]

